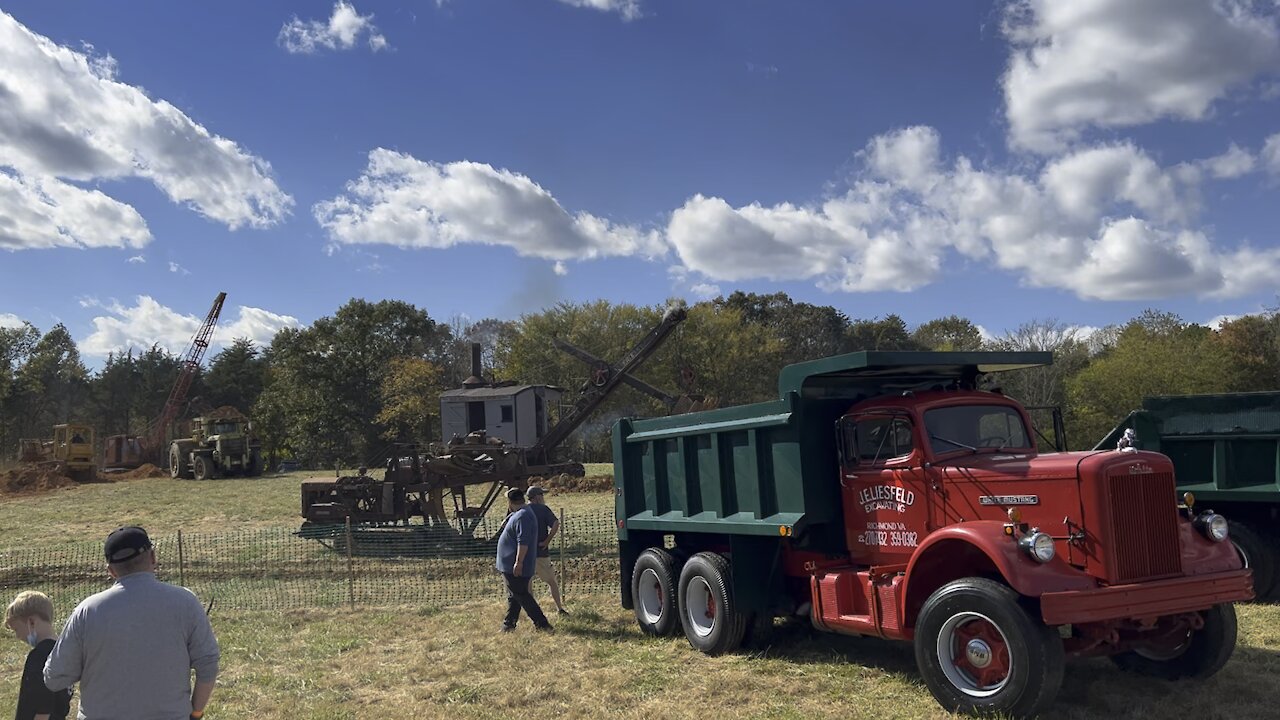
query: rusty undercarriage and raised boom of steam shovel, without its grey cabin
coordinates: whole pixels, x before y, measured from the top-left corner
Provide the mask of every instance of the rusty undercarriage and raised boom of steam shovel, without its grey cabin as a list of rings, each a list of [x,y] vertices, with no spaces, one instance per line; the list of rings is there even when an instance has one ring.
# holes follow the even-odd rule
[[[662,322],[617,365],[591,357],[595,369],[577,402],[531,447],[508,445],[477,430],[428,448],[394,446],[381,478],[362,469],[357,475],[305,480],[305,521],[298,534],[337,542],[349,519],[356,532],[366,537],[378,530],[407,528],[471,538],[507,488],[529,487],[534,477],[581,477],[582,465],[561,460],[557,448],[614,389],[625,382],[632,386],[639,382],[631,373],[653,356],[686,316],[682,305],[668,307]],[[474,374],[479,375],[479,369]],[[421,518],[421,524],[415,518]]]

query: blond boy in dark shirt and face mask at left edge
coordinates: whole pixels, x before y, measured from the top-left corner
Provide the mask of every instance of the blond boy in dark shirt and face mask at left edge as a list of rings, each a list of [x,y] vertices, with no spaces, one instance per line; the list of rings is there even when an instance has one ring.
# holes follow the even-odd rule
[[[45,685],[45,660],[54,650],[54,603],[40,592],[20,592],[4,611],[4,624],[13,634],[27,641],[31,652],[22,667],[18,688],[18,711],[14,720],[67,720],[72,710],[72,693],[54,692]]]

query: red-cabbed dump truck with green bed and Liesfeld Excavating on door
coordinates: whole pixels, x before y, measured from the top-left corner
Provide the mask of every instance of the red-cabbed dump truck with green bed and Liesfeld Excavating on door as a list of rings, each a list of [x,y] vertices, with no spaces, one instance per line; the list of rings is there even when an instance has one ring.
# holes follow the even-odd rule
[[[776,616],[914,643],[947,710],[1028,716],[1066,657],[1206,678],[1253,597],[1226,520],[1179,505],[1153,452],[1039,455],[977,389],[1047,352],[854,352],[780,398],[613,429],[622,605],[736,650]]]

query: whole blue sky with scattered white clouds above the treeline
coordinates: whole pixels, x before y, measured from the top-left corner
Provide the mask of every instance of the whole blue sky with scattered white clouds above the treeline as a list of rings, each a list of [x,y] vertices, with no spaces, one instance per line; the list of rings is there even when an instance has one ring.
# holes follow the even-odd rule
[[[1274,306],[1274,3],[0,4],[0,323],[88,360],[786,291],[991,333]]]

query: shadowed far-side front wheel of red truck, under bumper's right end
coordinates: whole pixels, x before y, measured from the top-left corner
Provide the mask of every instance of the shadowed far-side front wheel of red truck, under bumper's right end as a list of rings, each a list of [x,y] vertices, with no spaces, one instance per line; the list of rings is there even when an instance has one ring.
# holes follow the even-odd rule
[[[1204,626],[1132,652],[1112,655],[1123,670],[1166,680],[1208,678],[1235,652],[1235,606],[1215,605],[1203,612]]]

